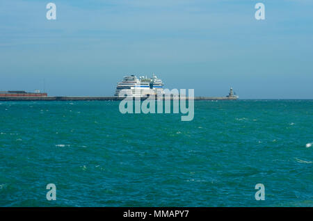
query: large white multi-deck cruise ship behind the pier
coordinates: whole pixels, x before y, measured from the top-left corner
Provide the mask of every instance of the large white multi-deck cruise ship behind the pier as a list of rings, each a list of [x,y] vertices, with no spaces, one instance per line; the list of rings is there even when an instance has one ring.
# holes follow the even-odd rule
[[[150,95],[164,95],[163,82],[153,74],[152,78],[140,76],[139,79],[135,75],[125,76],[123,81],[118,83],[115,95],[117,97],[125,97],[120,95],[120,91],[131,97],[147,97]]]

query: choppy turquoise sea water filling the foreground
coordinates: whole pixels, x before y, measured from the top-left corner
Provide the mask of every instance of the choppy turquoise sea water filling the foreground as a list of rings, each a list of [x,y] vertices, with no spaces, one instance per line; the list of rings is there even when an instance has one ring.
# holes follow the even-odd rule
[[[0,206],[313,206],[312,100],[118,104],[0,101]]]

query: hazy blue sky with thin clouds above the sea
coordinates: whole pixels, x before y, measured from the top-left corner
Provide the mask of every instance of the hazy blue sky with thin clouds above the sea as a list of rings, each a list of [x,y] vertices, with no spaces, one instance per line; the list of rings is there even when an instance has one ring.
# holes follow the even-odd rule
[[[0,1],[0,90],[113,96],[152,73],[195,96],[313,99],[313,1]]]

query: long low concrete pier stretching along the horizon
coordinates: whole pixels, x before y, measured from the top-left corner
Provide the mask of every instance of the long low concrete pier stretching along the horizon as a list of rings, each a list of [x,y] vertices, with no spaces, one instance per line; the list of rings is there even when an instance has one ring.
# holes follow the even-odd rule
[[[0,97],[0,101],[121,101],[124,97]],[[146,98],[141,98],[145,100]],[[166,99],[166,98],[165,98]],[[172,99],[172,98],[171,98]],[[186,97],[188,99],[188,97]],[[195,101],[236,100],[236,97],[195,97]]]

